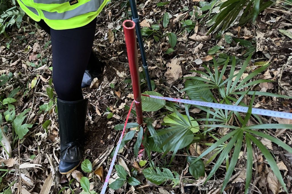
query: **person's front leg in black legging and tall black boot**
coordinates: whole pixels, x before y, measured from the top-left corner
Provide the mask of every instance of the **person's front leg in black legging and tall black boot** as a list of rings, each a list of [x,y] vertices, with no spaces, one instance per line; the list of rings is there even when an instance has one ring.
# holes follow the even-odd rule
[[[83,157],[87,100],[83,99],[81,82],[92,50],[95,26],[93,20],[76,29],[51,29],[62,174],[72,172]]]

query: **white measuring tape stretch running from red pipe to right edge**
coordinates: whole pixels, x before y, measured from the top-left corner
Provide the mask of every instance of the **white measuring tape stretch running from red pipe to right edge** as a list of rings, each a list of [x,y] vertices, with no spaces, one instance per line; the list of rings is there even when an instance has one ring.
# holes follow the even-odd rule
[[[152,95],[145,95],[145,94],[142,94],[142,96],[148,96],[150,98],[157,98],[157,99],[161,99],[161,100],[168,100],[168,101],[180,102],[180,103],[186,103],[186,104],[192,104],[192,105],[198,105],[198,106],[206,106],[206,107],[211,107],[211,108],[233,110],[233,111],[238,111],[238,112],[247,112],[247,110],[248,110],[248,107],[244,107],[244,106],[201,102],[201,101],[196,101],[196,100],[186,100],[186,99],[180,99],[180,98],[169,98],[169,97],[152,96]],[[280,117],[280,118],[285,118],[285,119],[292,119],[292,113],[288,113],[288,112],[279,112],[279,111],[274,111],[274,110],[252,108],[251,113],[270,116],[270,117]]]

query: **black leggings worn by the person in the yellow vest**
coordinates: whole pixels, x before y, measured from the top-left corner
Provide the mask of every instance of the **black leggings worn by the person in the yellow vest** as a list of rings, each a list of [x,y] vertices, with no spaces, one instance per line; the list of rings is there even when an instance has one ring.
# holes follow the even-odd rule
[[[43,20],[39,26],[51,35],[53,84],[58,98],[83,99],[81,83],[86,67],[96,62],[92,51],[96,18],[89,24],[66,30],[54,30]]]

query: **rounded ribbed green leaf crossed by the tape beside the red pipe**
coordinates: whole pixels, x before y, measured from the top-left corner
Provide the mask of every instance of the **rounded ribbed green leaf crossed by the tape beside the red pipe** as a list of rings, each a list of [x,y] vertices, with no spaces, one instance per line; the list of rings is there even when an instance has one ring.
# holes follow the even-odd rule
[[[152,95],[152,96],[162,96],[158,92],[154,92],[154,91],[146,91],[142,94]],[[165,100],[150,98],[147,96],[141,96],[141,98],[142,98],[143,111],[147,111],[147,112],[157,111],[161,109],[162,107],[164,107],[165,105]]]

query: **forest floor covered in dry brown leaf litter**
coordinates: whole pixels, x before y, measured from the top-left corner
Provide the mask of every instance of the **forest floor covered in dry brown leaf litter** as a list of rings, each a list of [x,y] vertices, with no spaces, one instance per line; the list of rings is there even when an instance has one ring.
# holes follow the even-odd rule
[[[208,64],[213,60],[213,56],[215,58],[224,58],[224,56],[228,55],[236,56],[239,61],[245,60],[244,54],[247,52],[247,47],[234,42],[227,43],[224,38],[226,36],[222,35],[218,38],[217,33],[207,36],[208,29],[205,27],[204,22],[200,23],[197,20],[197,24],[190,33],[182,27],[181,20],[191,18],[190,11],[194,9],[194,6],[198,6],[198,1],[170,1],[169,4],[161,7],[157,7],[156,3],[159,3],[159,1],[138,3],[141,26],[150,27],[152,24],[159,24],[161,33],[173,32],[177,35],[178,40],[174,52],[165,54],[169,48],[167,36],[163,36],[159,39],[159,42],[156,42],[153,36],[145,37],[146,56],[151,79],[155,82],[155,91],[167,97],[184,97],[185,92],[179,92],[184,88],[185,82],[181,78],[197,76],[197,73],[190,72],[190,70],[205,71],[202,63]],[[171,17],[169,25],[163,28],[162,20],[166,11],[171,14]],[[102,187],[103,178],[106,176],[111,162],[109,155],[116,146],[120,135],[120,131],[113,128],[117,124],[124,123],[128,113],[125,106],[129,106],[133,100],[133,91],[129,87],[131,84],[127,82],[130,79],[130,73],[124,34],[121,27],[122,22],[129,18],[129,13],[130,8],[127,7],[125,1],[112,1],[98,16],[93,50],[106,66],[102,78],[100,80],[95,79],[90,87],[83,89],[84,98],[89,100],[84,157],[91,161],[93,170],[95,170],[96,176],[91,179],[91,189],[96,192],[100,191]],[[258,91],[292,96],[292,40],[291,37],[280,34],[278,31],[278,29],[285,28],[290,29],[290,32],[292,32],[291,20],[291,13],[285,15],[272,7],[263,11],[256,19],[256,22],[248,23],[241,27],[234,25],[225,32],[225,35],[250,41],[255,49],[249,63],[251,70],[257,69],[260,62],[270,63],[268,69],[258,77],[266,77],[275,82],[260,84],[256,88]],[[8,94],[12,89],[20,87],[21,91],[14,97],[17,99],[17,103],[14,103],[16,114],[31,108],[25,121],[34,125],[22,140],[14,141],[12,134],[9,133],[9,131],[11,132],[11,124],[8,124],[7,137],[12,144],[12,157],[6,158],[3,151],[0,161],[5,169],[11,171],[2,178],[0,191],[13,183],[11,187],[12,193],[19,192],[18,188],[21,187],[20,193],[34,194],[40,193],[45,184],[50,186],[51,183],[52,186],[49,187],[51,189],[49,189],[48,193],[58,193],[61,188],[69,187],[70,180],[75,178],[77,181],[71,181],[70,187],[74,189],[75,193],[80,193],[82,191],[79,183],[80,177],[86,174],[80,174],[82,173],[81,167],[78,167],[74,173],[67,175],[61,175],[58,172],[59,135],[57,115],[54,111],[55,101],[53,100],[52,107],[48,110],[40,110],[41,105],[51,101],[46,91],[46,88],[50,87],[49,82],[52,76],[50,67],[52,67],[53,60],[50,37],[42,29],[37,28],[32,20],[25,20],[23,25],[24,27],[20,29],[15,28],[8,31],[11,40],[4,36],[0,38],[0,72],[1,74],[13,73],[13,81],[2,87],[1,93]],[[208,54],[208,51],[215,45],[220,46],[220,49],[214,54]],[[138,50],[140,59],[139,52],[140,50]],[[141,62],[139,65],[142,66]],[[239,69],[240,67],[237,67],[236,70]],[[140,70],[142,71],[142,68]],[[228,75],[225,76],[228,77]],[[34,81],[35,77],[36,82]],[[147,91],[145,80],[142,80],[142,82],[144,82],[141,85],[142,91]],[[264,109],[292,112],[291,103],[291,99],[267,97],[259,98],[254,105]],[[199,112],[196,108],[192,108],[191,116],[194,118],[200,117],[198,115]],[[111,117],[107,118],[109,114]],[[153,115],[153,112],[145,112],[145,117],[152,117]],[[292,124],[289,119],[277,119],[274,117],[262,117],[262,119],[265,123]],[[50,120],[50,123],[44,126],[43,124],[47,120]],[[131,114],[129,122],[135,122],[133,114]],[[157,118],[154,121],[155,128],[160,128],[161,122],[162,119]],[[201,124],[204,124],[204,121],[201,121]],[[291,129],[269,130],[269,134],[280,138],[290,146],[292,145]],[[133,154],[134,143],[135,140],[124,146],[116,162],[125,164],[130,170],[132,168],[137,169],[135,165],[142,159],[135,158]],[[292,193],[291,153],[286,153],[272,142],[268,142],[265,145],[272,150],[277,162],[282,162],[285,165],[287,171],[281,172],[283,172],[282,175],[288,191]],[[203,151],[204,147],[200,149],[200,151],[197,150],[196,152]],[[183,173],[187,164],[184,155],[184,151],[178,152],[170,169],[190,178],[190,174]],[[161,154],[158,153],[157,157],[161,158]],[[166,156],[168,159],[162,161],[166,162],[170,157],[171,154]],[[263,158],[260,158],[260,155],[257,155],[256,158],[254,162],[258,163],[258,169],[256,170],[259,173],[256,177],[253,177],[252,183],[254,187],[252,192],[275,193],[273,189],[267,186],[267,184],[271,184],[271,182],[267,183],[266,179],[269,167]],[[213,164],[215,164],[215,161],[210,163],[210,166],[206,166],[207,174]],[[242,160],[237,164],[232,180],[226,187],[227,190],[225,191],[227,193],[242,193],[244,191],[244,178],[242,178],[244,175],[240,174],[240,169],[245,168],[245,166],[246,163]],[[208,181],[207,184],[203,185],[206,177],[202,177],[202,179],[195,181],[195,186],[189,188],[186,186],[184,192],[217,193],[218,190],[216,189],[223,182],[224,174],[225,168],[223,166],[219,168],[215,177]],[[109,193],[168,194],[183,192],[180,186],[172,188],[168,184],[157,186],[146,179],[140,179],[140,181],[142,184],[134,189],[126,186],[117,191],[109,189]],[[283,190],[278,192],[281,191]],[[70,188],[65,188],[65,191],[63,191],[63,193],[71,192]]]

